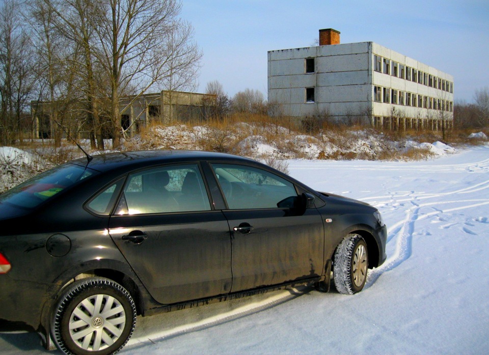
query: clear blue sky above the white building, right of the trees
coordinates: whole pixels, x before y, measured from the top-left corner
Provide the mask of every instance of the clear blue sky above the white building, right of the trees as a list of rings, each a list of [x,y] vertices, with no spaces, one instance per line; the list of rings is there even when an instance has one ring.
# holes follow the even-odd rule
[[[267,51],[309,47],[321,28],[341,43],[375,42],[454,77],[455,101],[489,86],[489,1],[182,0],[204,52],[199,92],[218,80],[229,96],[266,97]]]

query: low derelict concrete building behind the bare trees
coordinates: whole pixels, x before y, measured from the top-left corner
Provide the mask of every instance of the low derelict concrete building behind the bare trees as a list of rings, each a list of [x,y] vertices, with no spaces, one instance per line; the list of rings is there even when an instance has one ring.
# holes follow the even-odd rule
[[[200,121],[206,115],[205,111],[208,109],[206,105],[212,102],[212,100],[204,99],[209,99],[211,96],[208,94],[161,91],[154,94],[122,97],[119,105],[121,127],[126,136],[132,136],[151,123],[168,124],[175,121]],[[51,138],[53,136],[56,123],[52,120],[50,114],[52,107],[50,105],[52,104],[46,101],[31,102],[32,115],[34,116],[33,136],[35,138]],[[70,126],[69,132],[75,133],[80,138],[89,137],[87,110],[83,109],[83,103],[74,102],[64,105],[55,103],[55,106],[58,107],[59,115],[69,116],[63,120],[65,125]],[[110,122],[108,117],[104,117],[103,110],[101,119],[107,123]],[[111,138],[110,125],[102,126],[102,131],[105,138]]]

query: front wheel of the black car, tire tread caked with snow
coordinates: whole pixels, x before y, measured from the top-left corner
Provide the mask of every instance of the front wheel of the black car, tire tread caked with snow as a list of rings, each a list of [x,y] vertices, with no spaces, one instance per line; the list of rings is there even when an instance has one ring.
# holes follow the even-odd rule
[[[361,235],[348,234],[335,252],[333,278],[338,292],[360,292],[367,280],[367,270],[367,244]]]

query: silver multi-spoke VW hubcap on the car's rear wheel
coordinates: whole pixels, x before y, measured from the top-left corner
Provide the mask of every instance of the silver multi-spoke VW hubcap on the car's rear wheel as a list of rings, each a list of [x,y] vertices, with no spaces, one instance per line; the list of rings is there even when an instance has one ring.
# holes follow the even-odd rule
[[[71,339],[88,351],[114,344],[122,334],[126,315],[121,303],[107,294],[95,294],[80,302],[71,313]]]

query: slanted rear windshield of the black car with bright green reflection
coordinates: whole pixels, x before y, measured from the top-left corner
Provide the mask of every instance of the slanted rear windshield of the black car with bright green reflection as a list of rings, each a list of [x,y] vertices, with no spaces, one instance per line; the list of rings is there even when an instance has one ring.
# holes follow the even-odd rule
[[[35,176],[0,195],[0,203],[33,209],[61,191],[97,174],[86,167],[63,164]]]

